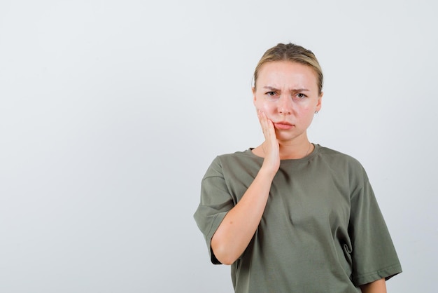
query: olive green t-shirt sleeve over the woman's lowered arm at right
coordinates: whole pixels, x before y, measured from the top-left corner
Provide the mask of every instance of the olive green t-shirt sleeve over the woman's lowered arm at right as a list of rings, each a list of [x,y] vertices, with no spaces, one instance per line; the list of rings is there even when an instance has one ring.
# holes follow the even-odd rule
[[[361,165],[351,175],[351,215],[348,226],[353,250],[353,283],[364,285],[402,272],[367,174]],[[355,177],[355,179],[353,179]]]

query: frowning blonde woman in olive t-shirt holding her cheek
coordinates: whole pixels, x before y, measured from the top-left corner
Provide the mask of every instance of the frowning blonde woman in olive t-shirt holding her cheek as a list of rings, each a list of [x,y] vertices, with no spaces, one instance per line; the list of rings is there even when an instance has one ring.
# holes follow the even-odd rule
[[[311,144],[323,74],[279,43],[254,74],[260,146],[215,158],[195,220],[236,292],[386,292],[402,268],[362,165]]]

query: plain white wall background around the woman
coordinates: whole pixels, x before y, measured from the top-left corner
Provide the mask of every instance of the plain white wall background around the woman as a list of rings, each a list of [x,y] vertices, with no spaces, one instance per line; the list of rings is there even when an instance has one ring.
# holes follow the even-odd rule
[[[192,214],[218,154],[262,142],[267,48],[325,74],[312,142],[365,166],[404,273],[436,292],[434,1],[0,2],[0,292],[232,292]]]

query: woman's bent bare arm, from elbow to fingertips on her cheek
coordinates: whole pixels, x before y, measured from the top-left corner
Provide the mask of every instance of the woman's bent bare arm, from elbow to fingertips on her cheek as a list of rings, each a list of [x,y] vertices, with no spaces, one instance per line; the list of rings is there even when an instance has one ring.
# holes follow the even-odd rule
[[[262,219],[272,180],[280,167],[274,125],[260,111],[259,120],[266,147],[262,167],[239,203],[229,210],[211,238],[211,249],[222,264],[232,264],[246,250]]]

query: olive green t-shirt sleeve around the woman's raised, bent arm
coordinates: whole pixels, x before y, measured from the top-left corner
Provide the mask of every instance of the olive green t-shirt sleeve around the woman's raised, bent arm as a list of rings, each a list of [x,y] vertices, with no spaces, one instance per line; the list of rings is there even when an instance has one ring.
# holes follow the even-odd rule
[[[199,229],[204,234],[213,264],[220,264],[220,261],[211,250],[211,238],[232,207],[234,200],[227,189],[220,159],[217,157],[202,179],[201,201],[194,215]]]

